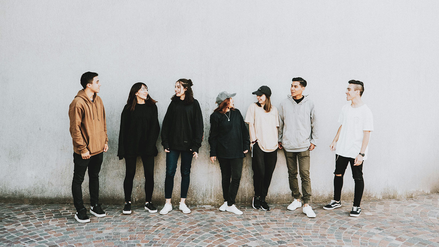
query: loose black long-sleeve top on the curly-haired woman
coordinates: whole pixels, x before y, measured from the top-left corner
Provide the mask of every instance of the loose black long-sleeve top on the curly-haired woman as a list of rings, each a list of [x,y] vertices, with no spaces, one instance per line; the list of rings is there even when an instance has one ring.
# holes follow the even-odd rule
[[[204,125],[200,104],[190,105],[177,98],[171,101],[162,124],[163,149],[177,149],[198,153],[203,141]]]

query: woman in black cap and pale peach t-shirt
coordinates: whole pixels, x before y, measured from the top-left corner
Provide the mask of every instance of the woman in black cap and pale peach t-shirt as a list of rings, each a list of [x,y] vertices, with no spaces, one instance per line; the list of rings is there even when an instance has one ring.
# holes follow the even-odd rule
[[[253,187],[255,196],[252,206],[254,209],[270,210],[265,201],[271,177],[277,162],[277,128],[279,114],[277,108],[271,105],[270,87],[262,86],[256,94],[258,102],[248,107],[245,122],[248,123],[252,146]]]

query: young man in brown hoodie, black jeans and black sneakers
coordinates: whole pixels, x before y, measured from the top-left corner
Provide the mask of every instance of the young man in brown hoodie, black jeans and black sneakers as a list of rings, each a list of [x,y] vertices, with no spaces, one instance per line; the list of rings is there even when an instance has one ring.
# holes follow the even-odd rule
[[[90,189],[90,213],[96,217],[106,216],[99,204],[99,171],[108,150],[107,124],[102,100],[97,93],[101,83],[97,73],[86,72],[81,76],[83,89],[76,94],[68,109],[70,134],[73,139],[72,180],[75,219],[80,223],[90,222],[82,198],[82,183],[88,167]]]

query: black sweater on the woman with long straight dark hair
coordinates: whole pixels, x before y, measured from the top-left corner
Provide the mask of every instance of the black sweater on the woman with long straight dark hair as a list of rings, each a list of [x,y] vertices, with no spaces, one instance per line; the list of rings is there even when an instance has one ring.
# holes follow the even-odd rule
[[[133,112],[130,108],[129,105],[125,105],[120,117],[117,150],[119,160],[142,155],[157,156],[155,144],[160,133],[157,105],[136,104]]]

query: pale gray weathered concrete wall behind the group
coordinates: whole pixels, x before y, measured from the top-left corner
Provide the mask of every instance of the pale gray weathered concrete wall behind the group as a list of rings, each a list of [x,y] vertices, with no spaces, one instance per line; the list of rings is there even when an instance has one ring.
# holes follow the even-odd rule
[[[351,79],[365,83],[374,114],[365,197],[438,191],[439,2],[401,1],[1,1],[0,197],[71,202],[72,140],[68,105],[86,71],[99,73],[109,151],[101,200],[122,203],[125,163],[116,157],[120,113],[132,84],[144,82],[162,121],[174,82],[190,78],[202,105],[205,138],[219,91],[237,92],[243,114],[260,85],[279,105],[301,76],[318,109],[320,143],[311,152],[314,200],[332,194],[329,150]],[[165,153],[156,158],[154,201],[164,201]],[[194,160],[188,203],[222,200],[218,163],[203,142]],[[140,161],[133,189],[144,200]],[[245,159],[238,203],[253,195]],[[179,197],[177,171],[174,198]],[[345,197],[353,180],[348,168]],[[84,196],[88,195],[84,183]],[[267,200],[290,199],[282,152]],[[87,202],[87,199],[85,200]]]

